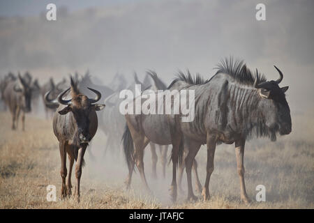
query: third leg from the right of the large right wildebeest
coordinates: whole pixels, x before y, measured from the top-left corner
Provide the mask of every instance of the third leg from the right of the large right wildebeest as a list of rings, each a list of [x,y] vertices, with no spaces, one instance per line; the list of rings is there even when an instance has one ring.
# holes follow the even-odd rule
[[[188,179],[188,200],[196,200],[197,197],[195,197],[193,193],[193,187],[192,187],[192,166],[195,159],[195,155],[200,150],[200,143],[197,141],[191,141],[184,139],[184,146],[187,146],[188,148],[188,155],[186,156],[185,162],[186,162],[186,178]]]

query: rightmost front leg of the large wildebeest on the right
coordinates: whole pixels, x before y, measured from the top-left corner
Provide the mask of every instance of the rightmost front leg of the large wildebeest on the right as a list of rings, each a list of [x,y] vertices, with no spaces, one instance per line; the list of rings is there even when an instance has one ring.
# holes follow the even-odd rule
[[[235,152],[237,156],[237,171],[240,178],[241,184],[241,200],[244,203],[248,203],[248,194],[246,194],[246,185],[244,183],[244,145],[246,144],[245,139],[241,139],[235,142]]]

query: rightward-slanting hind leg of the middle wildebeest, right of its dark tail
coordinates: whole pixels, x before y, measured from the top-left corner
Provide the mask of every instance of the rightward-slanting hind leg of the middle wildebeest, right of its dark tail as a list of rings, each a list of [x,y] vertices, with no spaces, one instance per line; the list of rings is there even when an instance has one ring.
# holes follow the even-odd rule
[[[140,172],[142,181],[145,185],[145,188],[147,191],[150,192],[145,173],[144,173],[144,148],[149,144],[149,139],[147,139],[144,136],[136,137],[134,140],[134,145],[135,145],[135,163],[137,166],[138,171]]]

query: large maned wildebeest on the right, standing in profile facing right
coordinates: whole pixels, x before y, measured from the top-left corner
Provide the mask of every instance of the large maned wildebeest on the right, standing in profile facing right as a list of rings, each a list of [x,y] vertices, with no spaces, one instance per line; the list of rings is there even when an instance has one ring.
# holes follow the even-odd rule
[[[275,66],[276,68],[276,66]],[[216,75],[198,86],[188,86],[195,91],[195,118],[183,123],[170,120],[172,139],[183,139],[188,144],[185,159],[188,176],[188,199],[196,199],[190,178],[193,159],[202,144],[207,144],[207,176],[203,188],[204,200],[209,199],[209,179],[214,171],[216,144],[235,143],[237,171],[241,183],[241,200],[248,203],[244,184],[244,144],[251,137],[270,137],[289,134],[292,129],[290,108],[285,99],[288,87],[280,88],[282,72],[276,81],[267,82],[246,68],[243,61],[225,60],[218,65]],[[175,84],[175,83],[174,83]],[[181,116],[181,115],[179,115]],[[175,153],[176,155],[177,153]]]

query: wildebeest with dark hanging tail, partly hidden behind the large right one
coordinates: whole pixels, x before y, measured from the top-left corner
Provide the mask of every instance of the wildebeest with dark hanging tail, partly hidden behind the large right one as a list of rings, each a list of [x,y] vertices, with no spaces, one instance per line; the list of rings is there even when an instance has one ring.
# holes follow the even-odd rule
[[[181,151],[188,151],[187,144],[184,144],[183,141],[180,139],[179,141],[172,139],[170,134],[170,128],[168,121],[168,114],[165,114],[165,107],[171,105],[171,100],[167,100],[167,96],[174,92],[183,89],[186,86],[190,86],[192,84],[201,84],[204,83],[200,75],[196,75],[195,79],[190,75],[185,76],[182,72],[179,72],[179,79],[182,81],[177,84],[170,84],[167,90],[163,93],[160,93],[158,96],[158,100],[163,98],[163,102],[157,103],[158,100],[156,99],[156,92],[149,93],[150,98],[154,98],[154,102],[156,102],[156,108],[158,111],[163,110],[163,114],[126,114],[126,128],[124,130],[124,135],[122,137],[124,141],[124,153],[126,157],[126,162],[128,164],[128,178],[126,179],[126,186],[127,188],[130,187],[130,182],[133,174],[133,169],[136,164],[137,169],[140,171],[140,175],[142,181],[147,190],[149,190],[149,186],[147,184],[147,180],[144,174],[144,148],[152,142],[154,144],[159,145],[169,145],[172,144],[172,186],[171,186],[171,195],[172,200],[177,199],[177,180],[176,180],[176,168],[178,164],[178,157],[175,155]],[[172,92],[172,93],[170,93]],[[141,97],[141,105],[144,104],[146,101],[144,98]],[[170,98],[168,98],[170,99]],[[135,102],[133,100],[133,102]],[[130,103],[129,103],[130,104]],[[161,109],[160,109],[161,108]],[[133,145],[134,144],[134,145]],[[181,159],[179,159],[180,161]],[[181,162],[180,162],[181,163]],[[184,164],[181,163],[181,169],[184,168]],[[196,182],[198,190],[200,191],[202,186],[200,185],[200,180],[197,177],[197,163],[193,160],[193,169],[195,170]],[[181,178],[181,176],[180,176]]]

